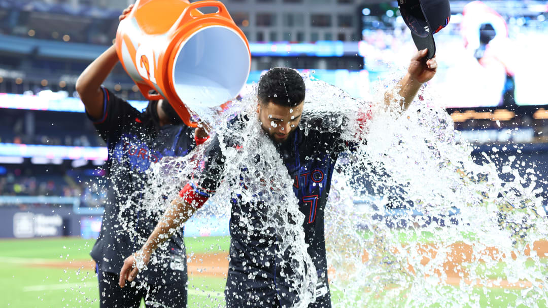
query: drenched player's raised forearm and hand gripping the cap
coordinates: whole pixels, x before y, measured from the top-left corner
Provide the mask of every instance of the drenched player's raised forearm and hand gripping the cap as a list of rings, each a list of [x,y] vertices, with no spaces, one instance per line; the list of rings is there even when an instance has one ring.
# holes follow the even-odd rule
[[[387,106],[397,103],[403,110],[407,109],[420,87],[434,77],[438,67],[436,57],[426,60],[427,54],[428,49],[423,49],[411,58],[406,75],[399,80],[396,86],[399,89],[399,97],[395,97],[390,90],[386,91],[384,101]]]

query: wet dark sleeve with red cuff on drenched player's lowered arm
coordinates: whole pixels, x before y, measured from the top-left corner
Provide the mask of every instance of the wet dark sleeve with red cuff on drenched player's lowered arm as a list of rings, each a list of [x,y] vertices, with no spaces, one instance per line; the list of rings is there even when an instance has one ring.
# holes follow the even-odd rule
[[[198,163],[197,170],[189,183],[179,191],[179,196],[189,204],[194,204],[198,208],[202,207],[219,188],[224,170],[225,158],[222,155],[219,139],[215,137],[208,144],[206,155]]]

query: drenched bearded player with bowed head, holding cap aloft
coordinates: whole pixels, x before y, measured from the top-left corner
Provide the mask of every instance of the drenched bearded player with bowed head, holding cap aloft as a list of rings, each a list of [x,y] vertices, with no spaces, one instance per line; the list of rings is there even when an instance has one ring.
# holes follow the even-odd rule
[[[435,57],[426,60],[427,49],[418,51],[411,60],[407,74],[399,81],[397,100],[386,96],[387,104],[407,108],[420,86],[436,73]],[[273,68],[265,73],[258,86],[258,119],[262,130],[275,143],[287,172],[294,179],[293,190],[299,200],[299,210],[305,215],[302,222],[308,253],[316,266],[318,280],[315,301],[309,307],[331,307],[324,240],[324,208],[329,194],[333,168],[338,155],[351,147],[341,138],[341,132],[309,130],[305,134],[299,126],[305,110],[305,83],[298,72],[289,68]],[[243,115],[231,125],[249,121]],[[324,130],[328,131],[328,130]],[[235,136],[234,140],[237,140]],[[225,138],[226,142],[226,138]],[[226,146],[238,147],[227,141]],[[146,264],[150,255],[163,242],[164,235],[186,221],[214,194],[222,181],[226,164],[219,140],[208,145],[207,164],[198,181],[191,181],[179,193],[161,222],[149,236],[137,255],[125,259],[120,272],[121,286],[133,281],[139,272],[136,258]],[[252,202],[260,202],[252,201]],[[283,278],[283,254],[276,253],[275,230],[257,233],[259,228],[249,225],[261,222],[261,213],[241,197],[232,199],[230,220],[230,263],[225,289],[228,307],[289,307],[295,298],[290,282]],[[286,268],[287,270],[287,268]],[[253,274],[253,275],[250,275]]]

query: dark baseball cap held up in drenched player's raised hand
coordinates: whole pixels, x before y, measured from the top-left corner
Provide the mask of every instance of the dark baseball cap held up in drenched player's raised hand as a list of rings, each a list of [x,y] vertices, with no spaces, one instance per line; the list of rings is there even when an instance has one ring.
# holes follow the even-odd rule
[[[433,34],[449,24],[449,0],[398,0],[398,5],[416,48],[428,48],[426,57],[432,59],[436,55]]]

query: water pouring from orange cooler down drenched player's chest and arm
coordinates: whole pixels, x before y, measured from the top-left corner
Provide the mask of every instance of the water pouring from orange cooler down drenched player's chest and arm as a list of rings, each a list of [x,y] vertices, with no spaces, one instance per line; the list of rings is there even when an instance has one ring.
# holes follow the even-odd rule
[[[285,256],[281,265],[286,268],[283,278],[290,282],[289,290],[295,294],[294,306],[305,307],[312,300],[317,276],[310,255],[306,252],[304,230],[300,223],[304,221],[304,214],[299,211],[287,168],[283,165],[275,145],[261,129],[253,108],[256,101],[253,100],[254,98],[249,98],[234,102],[230,112],[208,118],[209,123],[216,123],[216,137],[226,164],[222,169],[222,182],[210,205],[196,215],[204,218],[212,215],[226,217],[230,212],[229,201],[232,198],[240,198],[243,204],[249,202],[249,208],[239,217],[243,223],[239,228],[244,230],[244,234],[264,235],[264,239],[261,239],[263,242],[268,241],[269,245],[277,246],[276,256],[258,254],[255,256],[256,262]],[[242,125],[230,125],[234,113],[244,114],[249,120],[243,121]],[[124,229],[140,245],[146,241],[146,236],[134,229],[133,223],[125,218],[131,216],[124,213],[142,211],[147,217],[159,217],[169,200],[158,200],[163,200],[163,196],[176,196],[178,189],[189,179],[202,176],[200,165],[204,163],[207,150],[208,144],[205,144],[192,155],[163,159],[147,171],[147,190],[138,192],[144,199],[142,205],[145,206],[139,208],[128,202],[119,215],[125,225]],[[163,262],[166,249],[167,243],[159,247],[158,252],[152,255],[151,264]],[[249,275],[256,275],[252,270],[253,264],[248,266]],[[146,287],[146,283],[142,282],[141,287]]]

